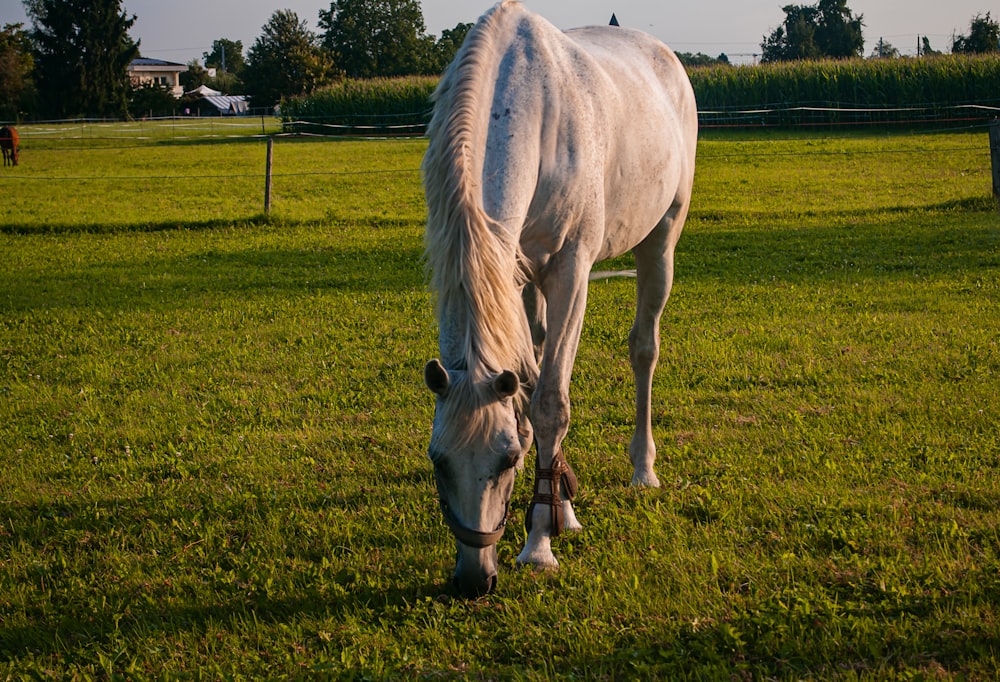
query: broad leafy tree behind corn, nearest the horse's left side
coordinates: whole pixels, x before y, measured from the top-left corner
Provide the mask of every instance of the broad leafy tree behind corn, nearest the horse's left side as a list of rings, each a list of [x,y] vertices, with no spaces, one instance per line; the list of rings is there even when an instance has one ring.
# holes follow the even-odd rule
[[[319,26],[323,47],[353,78],[440,71],[417,0],[334,0]]]

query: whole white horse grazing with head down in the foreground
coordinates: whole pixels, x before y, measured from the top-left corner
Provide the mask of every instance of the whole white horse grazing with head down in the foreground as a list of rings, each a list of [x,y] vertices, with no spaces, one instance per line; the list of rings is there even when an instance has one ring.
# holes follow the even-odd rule
[[[558,565],[578,530],[562,453],[569,385],[600,260],[631,250],[638,303],[632,483],[658,486],[650,423],[659,321],[691,199],[698,122],[677,57],[613,26],[559,31],[503,0],[469,32],[435,92],[423,161],[440,360],[429,454],[458,549],[455,584],[492,590],[516,472],[536,444],[521,564]]]

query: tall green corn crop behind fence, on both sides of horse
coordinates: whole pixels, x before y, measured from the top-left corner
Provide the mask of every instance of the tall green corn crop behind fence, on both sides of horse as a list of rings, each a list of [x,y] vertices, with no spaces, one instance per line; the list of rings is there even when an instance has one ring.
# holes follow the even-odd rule
[[[928,125],[1000,114],[1000,55],[783,62],[689,70],[704,127]],[[281,105],[288,132],[422,134],[433,77],[344,80]]]

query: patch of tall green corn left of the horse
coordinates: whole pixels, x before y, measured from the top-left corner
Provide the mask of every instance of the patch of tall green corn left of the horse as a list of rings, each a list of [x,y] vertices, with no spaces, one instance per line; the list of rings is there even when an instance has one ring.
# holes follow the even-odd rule
[[[437,81],[430,76],[348,78],[312,95],[287,100],[281,115],[286,123],[296,122],[295,130],[300,132],[341,134],[344,131],[339,126],[408,126],[412,133],[413,126],[424,126],[430,120],[430,97]],[[319,125],[303,126],[301,122]],[[338,127],[324,128],[331,125]]]

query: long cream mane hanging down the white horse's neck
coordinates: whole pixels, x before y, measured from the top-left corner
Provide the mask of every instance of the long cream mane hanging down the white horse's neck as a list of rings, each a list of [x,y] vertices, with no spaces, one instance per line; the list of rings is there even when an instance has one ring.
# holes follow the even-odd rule
[[[521,370],[524,349],[530,348],[520,298],[525,279],[519,235],[483,209],[480,143],[503,48],[498,27],[519,8],[505,0],[470,31],[434,93],[431,141],[422,164],[428,207],[424,255],[438,321],[443,333],[447,324],[448,333],[459,337],[460,357],[451,361],[460,366],[451,369],[477,374]]]

